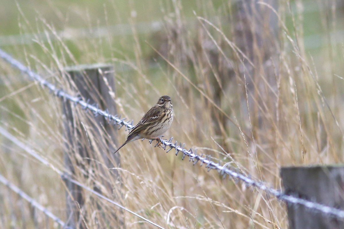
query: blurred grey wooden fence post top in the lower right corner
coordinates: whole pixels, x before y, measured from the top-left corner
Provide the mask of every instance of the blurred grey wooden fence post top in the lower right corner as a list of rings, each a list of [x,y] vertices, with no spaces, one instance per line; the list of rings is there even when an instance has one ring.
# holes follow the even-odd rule
[[[315,166],[281,169],[286,194],[344,210],[344,167]],[[343,219],[303,205],[288,205],[290,229],[344,228]]]

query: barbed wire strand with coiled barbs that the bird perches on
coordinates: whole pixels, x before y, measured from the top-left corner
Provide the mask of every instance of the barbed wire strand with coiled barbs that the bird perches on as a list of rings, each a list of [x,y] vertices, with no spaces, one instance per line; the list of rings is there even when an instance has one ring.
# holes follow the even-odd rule
[[[98,108],[97,104],[94,104],[94,105],[89,104],[87,101],[83,101],[79,97],[69,95],[68,93],[66,93],[62,89],[57,89],[55,87],[55,85],[47,82],[40,75],[31,71],[29,68],[27,68],[26,66],[21,64],[18,60],[12,58],[9,54],[7,54],[6,52],[4,52],[1,49],[0,49],[0,57],[2,59],[6,60],[7,62],[9,62],[14,68],[17,68],[20,71],[29,75],[29,77],[31,77],[32,80],[35,80],[35,81],[39,82],[42,86],[47,87],[50,91],[54,92],[54,94],[57,95],[58,97],[69,100],[69,101],[75,103],[75,105],[79,104],[80,106],[83,107],[83,109],[85,109],[85,110],[88,109],[88,110],[92,111],[95,115],[102,115],[105,118],[107,118],[109,120],[109,122],[114,121],[114,124],[119,125],[120,128],[122,126],[125,126],[126,129],[131,129],[134,127],[133,122],[129,123],[129,122],[124,121],[126,118],[121,118],[118,115],[111,115],[111,114],[109,114],[109,112],[107,110],[106,111],[100,110]],[[266,193],[275,196],[277,199],[280,199],[281,201],[284,201],[287,204],[300,204],[300,205],[303,205],[303,206],[309,208],[310,210],[318,211],[319,213],[322,213],[322,214],[326,214],[326,215],[329,215],[332,217],[337,217],[337,218],[342,218],[342,219],[344,218],[344,210],[340,210],[340,209],[326,206],[323,204],[319,204],[316,202],[307,201],[305,199],[301,199],[298,197],[286,195],[280,190],[276,190],[274,188],[268,187],[268,185],[265,182],[256,181],[254,179],[251,179],[249,176],[246,176],[244,174],[241,174],[239,172],[236,172],[234,170],[226,168],[227,164],[221,165],[221,162],[215,163],[214,161],[211,161],[211,158],[209,156],[203,156],[203,154],[198,155],[196,152],[193,152],[192,149],[190,149],[190,150],[184,149],[185,144],[183,144],[183,147],[182,147],[181,143],[178,145],[178,141],[176,141],[175,144],[173,144],[172,140],[173,140],[173,137],[171,137],[169,140],[163,140],[160,138],[160,141],[163,144],[162,148],[164,150],[166,150],[166,147],[169,147],[167,152],[172,150],[172,149],[175,149],[176,155],[178,155],[179,152],[182,152],[183,153],[182,159],[184,159],[185,156],[187,156],[187,157],[189,157],[189,161],[192,161],[194,165],[198,161],[200,161],[201,166],[203,164],[205,164],[205,167],[208,168],[208,171],[210,171],[212,169],[217,170],[224,177],[226,175],[228,175],[229,177],[231,177],[235,180],[240,180],[240,181],[244,182],[246,184],[246,186],[253,186],[253,187],[257,188],[258,190],[265,191]],[[151,143],[152,141],[149,141],[149,142]],[[75,181],[72,181],[72,182],[74,183]],[[87,187],[85,187],[85,188],[87,188]],[[123,208],[123,209],[125,209],[125,208]]]

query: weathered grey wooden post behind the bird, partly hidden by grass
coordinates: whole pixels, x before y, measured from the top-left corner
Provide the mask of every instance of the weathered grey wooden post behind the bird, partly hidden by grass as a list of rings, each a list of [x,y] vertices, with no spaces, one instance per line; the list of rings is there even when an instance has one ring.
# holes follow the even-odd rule
[[[69,67],[64,69],[65,72],[70,76],[69,82],[71,87],[76,87],[79,95],[85,101],[88,101],[90,104],[96,103],[99,105],[101,110],[108,109],[110,114],[116,114],[116,104],[114,100],[111,98],[109,94],[109,87],[112,90],[115,90],[115,81],[114,81],[114,73],[112,66],[109,65],[81,65],[75,67]],[[66,77],[68,78],[68,77]],[[115,92],[115,91],[114,91]],[[92,158],[92,150],[87,149],[87,147],[82,145],[82,142],[88,142],[86,140],[87,136],[84,134],[84,130],[79,128],[81,125],[76,123],[76,119],[72,112],[71,103],[63,103],[63,114],[64,117],[64,130],[65,130],[65,138],[66,142],[66,151],[64,153],[64,161],[66,170],[69,171],[71,174],[75,174],[76,168],[75,161],[78,163],[76,159],[78,156],[79,158]],[[95,122],[93,122],[95,121]],[[106,133],[112,137],[112,139],[116,139],[117,135],[117,128],[114,128],[113,125],[108,125],[107,120],[103,116],[98,115],[94,117],[94,120],[90,121],[88,124],[90,126],[94,125],[101,125],[101,129],[105,129]],[[97,128],[94,128],[97,131]],[[101,135],[98,135],[101,136]],[[84,139],[84,140],[82,140]],[[117,144],[116,144],[117,145]],[[76,149],[76,150],[75,150]],[[109,153],[114,152],[115,148],[113,144],[108,144],[107,146],[108,151],[102,152],[103,160],[108,168],[114,167],[114,164],[108,158]],[[71,154],[74,150],[75,154]],[[112,154],[110,154],[112,157]],[[115,162],[117,166],[119,165],[120,159],[119,154],[114,156]],[[74,161],[74,165],[72,163]],[[86,160],[87,161],[87,160]],[[89,161],[86,164],[80,164],[80,166],[87,166],[90,163]],[[87,168],[85,171],[88,171]],[[87,175],[86,175],[87,176]],[[73,228],[86,228],[84,225],[82,217],[80,217],[80,209],[82,209],[84,204],[84,199],[82,196],[82,190],[80,187],[74,185],[73,183],[66,180],[66,186],[68,191],[66,193],[66,205],[67,205],[67,217],[68,217],[68,226]],[[94,187],[96,188],[96,187]],[[87,220],[87,219],[86,219]]]

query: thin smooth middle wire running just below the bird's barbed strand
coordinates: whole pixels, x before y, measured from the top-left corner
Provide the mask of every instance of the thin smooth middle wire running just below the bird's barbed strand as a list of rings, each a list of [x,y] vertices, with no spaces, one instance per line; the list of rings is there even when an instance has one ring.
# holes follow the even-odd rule
[[[30,147],[28,147],[27,145],[25,145],[25,144],[24,144],[23,142],[21,142],[18,138],[14,137],[12,134],[10,134],[6,129],[2,128],[1,126],[0,126],[0,133],[1,133],[4,137],[6,137],[7,139],[11,140],[15,145],[17,145],[17,146],[19,146],[20,148],[22,148],[23,150],[25,150],[25,151],[26,151],[27,153],[29,153],[32,157],[34,157],[35,159],[37,159],[38,161],[40,161],[40,162],[43,163],[44,165],[46,165],[46,166],[52,168],[55,172],[57,172],[58,175],[61,176],[61,178],[62,178],[63,180],[68,180],[68,181],[72,182],[73,184],[75,184],[75,185],[77,185],[77,186],[83,188],[84,190],[87,190],[87,191],[93,193],[94,195],[96,195],[96,196],[98,196],[98,197],[100,197],[100,198],[102,198],[102,199],[105,199],[106,201],[110,202],[111,204],[114,204],[114,205],[116,205],[117,207],[119,207],[119,208],[121,208],[121,209],[123,209],[123,210],[125,210],[125,211],[128,211],[129,213],[131,213],[131,214],[133,214],[133,215],[135,215],[135,216],[141,218],[142,220],[144,220],[144,221],[146,221],[146,222],[149,222],[150,224],[152,224],[152,225],[154,225],[154,226],[156,226],[156,227],[158,227],[158,228],[160,228],[160,229],[164,229],[163,227],[159,226],[158,224],[155,224],[154,222],[150,221],[149,219],[144,218],[143,216],[141,216],[141,215],[139,215],[139,214],[137,214],[137,213],[131,211],[130,209],[128,209],[128,208],[126,208],[126,207],[123,207],[122,205],[118,204],[117,202],[112,201],[112,200],[109,199],[108,197],[106,197],[106,196],[100,194],[99,192],[94,191],[92,188],[89,188],[89,187],[83,185],[82,183],[80,183],[80,182],[78,182],[78,181],[72,179],[72,178],[70,177],[69,174],[64,173],[64,172],[62,172],[61,170],[55,168],[53,164],[51,164],[49,161],[47,161],[47,160],[45,160],[44,158],[42,158],[42,157],[41,157],[39,154],[37,154],[34,150],[32,150],[32,149],[31,149]],[[1,176],[1,174],[0,174],[0,176]],[[1,181],[1,179],[0,179],[0,181]],[[24,192],[21,191],[19,188],[18,188],[18,190],[19,190],[21,193],[24,193]],[[50,215],[48,215],[48,216],[50,217]]]

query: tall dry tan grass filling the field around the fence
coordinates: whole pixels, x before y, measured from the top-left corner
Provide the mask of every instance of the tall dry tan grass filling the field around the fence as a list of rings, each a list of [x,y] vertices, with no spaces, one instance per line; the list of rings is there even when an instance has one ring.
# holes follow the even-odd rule
[[[108,3],[99,16],[108,28],[120,14],[115,3]],[[282,166],[343,161],[344,48],[343,41],[337,44],[326,37],[342,29],[343,8],[332,8],[336,16],[328,17],[331,8],[314,3],[322,9],[314,14],[319,14],[324,42],[318,49],[307,49],[308,28],[303,28],[307,15],[301,11],[307,5],[302,2],[296,4],[299,11],[290,12],[289,1],[280,1],[275,14],[268,1],[248,13],[247,5],[239,11],[235,3],[215,6],[200,0],[193,15],[183,11],[182,3],[160,3],[165,16],[159,32],[137,33],[133,13],[137,6],[128,3],[130,35],[113,37],[107,31],[105,37],[71,40],[61,39],[43,16],[34,23],[22,13],[22,33],[50,35],[44,37],[47,41],[37,36],[36,43],[6,50],[74,95],[78,92],[66,66],[113,64],[116,90],[109,90],[116,91],[111,96],[123,117],[139,121],[160,95],[168,94],[175,119],[167,138],[174,136],[185,147],[223,163],[233,161],[233,167],[274,188],[282,187]],[[181,160],[181,154],[166,154],[147,140],[123,147],[117,164],[112,151],[115,142],[125,140],[124,128],[114,139],[92,113],[78,106],[72,106],[76,130],[68,141],[65,102],[40,85],[22,82],[25,77],[5,62],[0,65],[1,126],[62,171],[67,152],[75,169],[73,178],[80,183],[164,228],[288,228],[286,207],[274,197],[192,166]],[[96,94],[92,85],[85,87]],[[63,180],[53,168],[7,139],[0,140],[1,174],[66,221]],[[88,157],[80,152],[88,152]],[[43,214],[33,217],[28,204],[21,207],[20,199],[1,187],[1,227],[33,228],[33,218],[40,227],[45,225]],[[87,228],[153,228],[87,191],[82,195],[80,213]],[[49,225],[57,227],[51,221]]]

